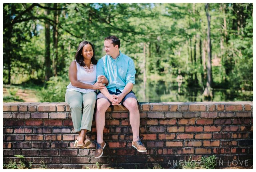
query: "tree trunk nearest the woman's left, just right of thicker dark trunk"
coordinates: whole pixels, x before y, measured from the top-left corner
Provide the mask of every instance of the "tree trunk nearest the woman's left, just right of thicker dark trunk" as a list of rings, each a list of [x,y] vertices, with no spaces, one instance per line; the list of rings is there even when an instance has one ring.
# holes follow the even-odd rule
[[[58,3],[54,3],[53,8],[58,8]],[[52,58],[53,75],[57,76],[57,64],[58,64],[58,23],[59,23],[59,11],[54,11],[54,22],[53,25],[53,48],[54,56]]]

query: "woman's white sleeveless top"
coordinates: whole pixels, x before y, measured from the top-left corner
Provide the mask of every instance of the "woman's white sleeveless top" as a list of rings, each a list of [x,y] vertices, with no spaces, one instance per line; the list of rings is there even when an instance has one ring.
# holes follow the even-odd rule
[[[76,60],[74,60],[76,62]],[[86,72],[85,68],[83,66],[80,66],[79,63],[76,62],[76,69],[77,69],[77,80],[79,82],[82,82],[84,84],[90,84],[93,85],[96,82],[96,65],[93,65],[93,72]],[[89,93],[96,90],[93,89],[85,89],[85,88],[78,88],[74,87],[69,83],[67,86],[67,92],[68,91],[79,91],[81,93]]]

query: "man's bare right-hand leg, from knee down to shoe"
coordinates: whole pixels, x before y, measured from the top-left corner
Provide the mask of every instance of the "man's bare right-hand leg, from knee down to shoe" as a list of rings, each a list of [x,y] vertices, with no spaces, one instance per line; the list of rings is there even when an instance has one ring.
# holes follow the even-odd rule
[[[137,104],[137,100],[134,98],[127,98],[123,105],[129,110],[130,124],[132,126],[133,141],[138,140],[140,129],[140,112]]]

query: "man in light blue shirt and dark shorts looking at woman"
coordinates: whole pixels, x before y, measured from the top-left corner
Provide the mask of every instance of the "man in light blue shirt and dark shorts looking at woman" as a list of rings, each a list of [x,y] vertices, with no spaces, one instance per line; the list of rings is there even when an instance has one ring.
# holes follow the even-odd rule
[[[120,40],[115,36],[105,38],[104,47],[106,55],[97,64],[97,78],[106,76],[109,83],[100,89],[97,95],[97,109],[95,115],[97,143],[95,158],[100,158],[106,146],[103,140],[105,126],[105,113],[110,105],[124,105],[130,113],[130,124],[133,132],[132,146],[139,152],[146,152],[146,148],[139,139],[140,113],[138,101],[132,92],[135,84],[135,66],[133,60],[121,53]]]

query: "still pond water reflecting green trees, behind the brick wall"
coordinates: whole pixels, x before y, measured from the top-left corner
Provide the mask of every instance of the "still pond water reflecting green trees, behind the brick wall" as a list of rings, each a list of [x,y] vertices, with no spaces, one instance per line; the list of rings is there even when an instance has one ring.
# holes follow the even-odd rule
[[[231,91],[227,89],[213,89],[213,98],[205,99],[204,90],[188,88],[171,81],[136,81],[133,91],[139,102],[202,102],[202,101],[253,101],[253,91]]]

